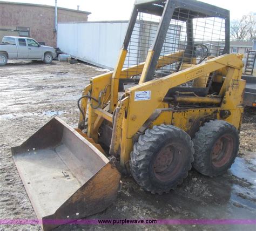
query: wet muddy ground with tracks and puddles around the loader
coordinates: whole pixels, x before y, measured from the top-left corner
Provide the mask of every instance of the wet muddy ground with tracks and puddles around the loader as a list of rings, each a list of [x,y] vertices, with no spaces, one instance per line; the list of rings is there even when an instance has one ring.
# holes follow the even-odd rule
[[[0,67],[0,219],[36,219],[11,157],[20,145],[55,115],[76,127],[77,99],[90,77],[104,70],[86,64],[11,62]],[[256,111],[246,108],[239,157],[218,178],[190,171],[176,191],[152,195],[123,176],[122,192],[103,213],[90,219],[255,219]],[[0,225],[0,230],[41,230],[38,225]],[[255,230],[255,225],[77,226],[57,230]]]

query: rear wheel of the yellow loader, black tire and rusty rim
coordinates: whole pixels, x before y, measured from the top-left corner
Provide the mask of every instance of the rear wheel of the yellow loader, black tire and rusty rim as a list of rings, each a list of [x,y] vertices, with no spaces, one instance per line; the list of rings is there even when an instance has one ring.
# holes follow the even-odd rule
[[[193,167],[201,174],[218,176],[227,171],[237,157],[237,128],[223,120],[211,120],[199,128],[194,139]]]

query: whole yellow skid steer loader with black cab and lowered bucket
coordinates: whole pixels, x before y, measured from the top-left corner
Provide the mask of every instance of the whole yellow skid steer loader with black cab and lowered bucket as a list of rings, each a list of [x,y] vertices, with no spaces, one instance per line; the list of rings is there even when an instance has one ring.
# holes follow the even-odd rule
[[[168,193],[193,166],[223,174],[239,147],[245,81],[229,55],[230,12],[199,1],[137,0],[113,72],[90,80],[73,129],[59,118],[12,154],[44,229],[109,206],[119,167]]]

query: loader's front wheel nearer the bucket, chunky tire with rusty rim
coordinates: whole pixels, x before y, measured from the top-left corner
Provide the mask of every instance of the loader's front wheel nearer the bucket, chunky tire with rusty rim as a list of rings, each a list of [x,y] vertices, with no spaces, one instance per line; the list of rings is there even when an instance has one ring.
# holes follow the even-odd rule
[[[131,174],[145,191],[167,193],[187,177],[193,153],[193,142],[186,132],[172,125],[154,126],[134,144]]]

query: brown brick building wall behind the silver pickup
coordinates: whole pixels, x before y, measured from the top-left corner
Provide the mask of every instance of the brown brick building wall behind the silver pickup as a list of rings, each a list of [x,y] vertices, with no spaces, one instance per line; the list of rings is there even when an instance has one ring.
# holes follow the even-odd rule
[[[58,9],[58,22],[85,22],[84,12]],[[48,6],[8,4],[0,2],[1,26],[24,26],[30,28],[30,37],[46,45],[56,46],[55,9]]]

